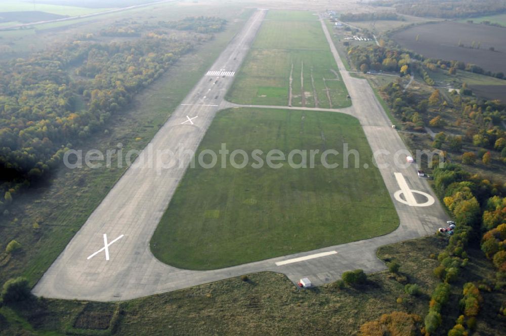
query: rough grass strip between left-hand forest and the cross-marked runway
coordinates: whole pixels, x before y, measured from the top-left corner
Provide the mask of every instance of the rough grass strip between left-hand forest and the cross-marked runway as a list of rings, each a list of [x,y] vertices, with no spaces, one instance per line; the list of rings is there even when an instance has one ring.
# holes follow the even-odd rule
[[[239,31],[240,20],[216,34],[211,43],[184,56],[132,103],[132,108],[112,117],[107,133],[96,133],[88,141],[73,144],[86,152],[105,152],[122,143],[125,152],[142,149],[170,116],[202,74]],[[0,217],[0,247],[3,251],[12,239],[22,245],[0,266],[0,283],[16,276],[25,276],[34,284],[58,257],[68,241],[85,223],[114,183],[125,171],[118,168],[116,157],[111,169],[75,169],[61,167],[46,184],[32,186],[17,194],[9,215]],[[38,228],[34,228],[37,223]]]

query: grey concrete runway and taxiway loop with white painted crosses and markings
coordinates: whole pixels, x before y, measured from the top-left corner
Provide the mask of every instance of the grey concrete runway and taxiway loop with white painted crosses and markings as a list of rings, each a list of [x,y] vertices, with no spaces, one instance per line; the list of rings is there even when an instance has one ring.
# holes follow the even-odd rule
[[[209,71],[238,71],[265,14],[266,11],[258,10],[251,16]],[[141,152],[136,160],[139,164],[125,172],[95,209],[33,288],[33,293],[47,298],[121,301],[260,271],[283,273],[293,282],[307,276],[320,285],[340,278],[347,270],[383,270],[385,264],[375,255],[379,246],[435,232],[447,219],[440,203],[427,181],[416,176],[416,167],[395,165],[395,161],[405,162],[405,153],[394,155],[397,150],[407,152],[404,143],[391,128],[367,80],[353,78],[346,72],[323,21],[322,28],[353,100],[352,107],[330,111],[356,116],[372,150],[390,151],[391,155],[382,155],[377,162],[389,164],[380,171],[400,218],[398,229],[380,237],[219,270],[183,270],[158,261],[151,254],[149,241],[186,171],[189,157],[183,159],[181,167],[178,164],[161,170],[163,162],[141,164],[141,158],[150,150],[177,152],[180,144],[196,150],[216,113],[221,108],[237,107],[223,100],[233,77],[206,75]],[[401,189],[404,193],[399,195]],[[427,197],[418,191],[425,192]],[[418,206],[428,198],[433,198],[434,204]],[[319,258],[313,258],[315,254]]]

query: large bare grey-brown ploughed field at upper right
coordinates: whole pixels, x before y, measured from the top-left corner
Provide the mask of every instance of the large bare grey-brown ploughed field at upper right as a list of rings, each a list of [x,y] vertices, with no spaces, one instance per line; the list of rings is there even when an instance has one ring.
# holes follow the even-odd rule
[[[444,33],[441,33],[444,32]],[[416,41],[416,36],[419,36]],[[476,64],[485,71],[505,72],[504,28],[458,22],[419,25],[396,32],[392,38],[402,47],[425,57]],[[473,41],[475,48],[472,49]],[[458,47],[461,43],[465,48]],[[478,44],[480,49],[477,49]],[[490,51],[494,48],[495,51]]]

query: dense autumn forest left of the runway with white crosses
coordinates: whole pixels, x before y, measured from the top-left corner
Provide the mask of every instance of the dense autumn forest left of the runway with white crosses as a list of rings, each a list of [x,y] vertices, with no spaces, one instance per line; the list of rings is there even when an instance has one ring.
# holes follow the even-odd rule
[[[118,23],[119,28],[105,31],[125,29],[141,36],[104,43],[82,34],[63,46],[0,64],[0,211],[21,188],[56,169],[73,144],[103,130],[112,114],[127,108],[182,55],[212,38],[198,31],[225,24],[220,20],[217,28],[215,18],[205,17],[188,21],[193,38]]]

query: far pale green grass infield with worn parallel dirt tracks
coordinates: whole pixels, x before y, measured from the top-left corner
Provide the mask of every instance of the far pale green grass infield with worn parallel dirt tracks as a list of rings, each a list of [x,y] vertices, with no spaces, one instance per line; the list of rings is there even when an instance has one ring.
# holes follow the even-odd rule
[[[271,10],[227,98],[240,104],[339,108],[351,105],[347,95],[317,17]]]

